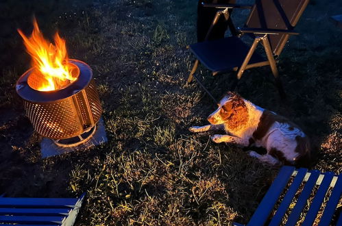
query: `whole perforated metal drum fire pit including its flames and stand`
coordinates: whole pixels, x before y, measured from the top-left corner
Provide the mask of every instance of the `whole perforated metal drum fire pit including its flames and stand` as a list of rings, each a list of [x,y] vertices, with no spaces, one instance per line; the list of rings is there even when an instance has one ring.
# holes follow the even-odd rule
[[[19,78],[16,92],[34,129],[60,147],[87,142],[102,113],[90,67],[68,58],[58,33],[55,45],[45,40],[36,20],[32,36],[19,34],[32,56],[32,68]]]

